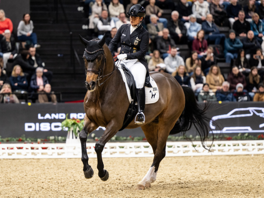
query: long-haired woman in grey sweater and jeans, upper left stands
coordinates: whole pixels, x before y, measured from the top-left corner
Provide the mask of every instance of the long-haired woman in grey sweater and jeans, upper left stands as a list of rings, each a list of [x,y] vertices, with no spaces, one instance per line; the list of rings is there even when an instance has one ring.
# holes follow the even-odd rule
[[[17,37],[19,41],[30,41],[35,48],[39,48],[40,45],[37,44],[37,35],[33,32],[33,22],[30,20],[30,15],[24,14],[23,20],[19,22],[17,28]]]

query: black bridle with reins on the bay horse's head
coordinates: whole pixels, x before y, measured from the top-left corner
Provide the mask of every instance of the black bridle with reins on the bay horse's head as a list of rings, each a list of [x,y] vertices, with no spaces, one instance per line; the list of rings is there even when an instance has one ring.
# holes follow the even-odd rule
[[[102,60],[102,63],[101,63],[100,69],[99,69],[99,70],[91,69],[91,68],[87,68],[87,69],[86,69],[87,72],[92,72],[92,73],[95,73],[95,74],[98,75],[98,78],[97,78],[96,81],[98,81],[98,86],[99,86],[99,87],[100,87],[101,85],[103,85],[103,84],[108,80],[108,78],[111,77],[111,75],[112,75],[112,74],[114,73],[114,71],[118,68],[118,65],[119,65],[120,62],[121,62],[121,61],[118,62],[117,65],[115,65],[115,63],[114,63],[114,65],[115,65],[114,70],[113,70],[112,72],[110,72],[110,73],[104,75],[104,69],[105,69],[105,65],[106,65],[106,57],[105,57],[104,49],[102,48],[102,49],[96,50],[96,51],[94,51],[94,52],[88,52],[88,51],[86,50],[86,48],[85,48],[85,52],[87,52],[87,53],[89,53],[89,54],[95,54],[95,53],[97,53],[97,52],[99,52],[99,51],[101,51],[101,50],[103,51],[103,60]],[[100,53],[100,54],[101,54],[101,53]],[[98,55],[99,55],[99,54],[98,54]],[[95,58],[97,58],[98,55],[97,55]],[[115,62],[115,60],[116,60],[116,59],[114,59],[114,62]],[[101,73],[102,73],[102,75],[101,75]],[[108,75],[109,75],[109,76],[108,76]],[[100,83],[100,80],[102,80],[102,78],[104,78],[104,77],[106,77],[106,76],[108,76],[108,77],[106,78],[106,80],[105,80],[103,83]]]

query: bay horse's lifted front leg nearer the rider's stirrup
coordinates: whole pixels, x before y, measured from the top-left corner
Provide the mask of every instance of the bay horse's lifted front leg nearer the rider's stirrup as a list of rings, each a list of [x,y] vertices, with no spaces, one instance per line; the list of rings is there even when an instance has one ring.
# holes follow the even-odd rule
[[[97,169],[98,169],[98,176],[101,180],[106,181],[109,178],[109,173],[107,170],[104,170],[104,163],[102,159],[102,152],[104,150],[105,144],[118,132],[120,126],[117,122],[111,121],[100,138],[100,140],[96,143],[95,151],[97,153]]]

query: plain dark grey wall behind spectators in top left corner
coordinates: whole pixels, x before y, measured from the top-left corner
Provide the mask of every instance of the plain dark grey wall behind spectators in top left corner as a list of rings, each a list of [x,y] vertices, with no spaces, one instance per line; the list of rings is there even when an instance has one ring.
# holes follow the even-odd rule
[[[1,0],[0,9],[6,13],[6,17],[13,22],[13,33],[17,34],[17,26],[22,20],[24,13],[30,11],[30,0]]]

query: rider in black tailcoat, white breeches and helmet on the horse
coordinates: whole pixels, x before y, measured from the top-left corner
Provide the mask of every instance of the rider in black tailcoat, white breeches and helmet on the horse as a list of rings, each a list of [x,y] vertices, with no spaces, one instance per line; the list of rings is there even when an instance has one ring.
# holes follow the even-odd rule
[[[131,71],[137,88],[139,112],[137,114],[138,122],[135,124],[144,124],[145,85],[151,87],[148,64],[144,58],[148,51],[149,32],[141,25],[146,11],[141,5],[136,4],[129,9],[127,14],[130,16],[130,24],[123,24],[118,29],[108,47],[113,51],[116,45],[121,42],[121,50],[117,59]]]

